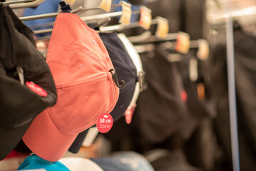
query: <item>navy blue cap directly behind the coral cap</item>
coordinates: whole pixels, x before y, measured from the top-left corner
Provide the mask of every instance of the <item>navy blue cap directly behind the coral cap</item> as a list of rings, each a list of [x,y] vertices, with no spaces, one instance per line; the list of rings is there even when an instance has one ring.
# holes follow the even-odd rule
[[[99,33],[99,35],[108,50],[113,66],[118,73],[119,81],[126,81],[126,86],[120,88],[118,102],[111,112],[115,122],[123,116],[133,98],[135,85],[138,81],[137,70],[117,33]],[[85,130],[80,133],[68,151],[77,153],[81,148],[84,138],[86,138],[87,132]]]

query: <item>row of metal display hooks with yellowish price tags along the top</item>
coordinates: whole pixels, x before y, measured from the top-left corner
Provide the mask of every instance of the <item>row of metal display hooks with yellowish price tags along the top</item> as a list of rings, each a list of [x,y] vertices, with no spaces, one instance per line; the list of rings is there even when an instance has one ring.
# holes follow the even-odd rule
[[[41,4],[44,0],[17,0],[17,1],[8,1],[1,4],[9,4],[12,9],[25,8],[25,7],[36,7]],[[122,6],[122,11],[109,12],[111,9]],[[200,58],[205,59],[208,57],[209,45],[208,42],[199,39],[190,41],[190,36],[188,33],[178,32],[178,33],[168,33],[169,24],[168,19],[157,16],[155,19],[152,19],[151,10],[145,6],[140,6],[140,10],[132,11],[131,4],[128,4],[125,1],[120,1],[120,4],[111,4],[111,0],[101,0],[101,4],[98,7],[91,9],[83,9],[82,6],[78,7],[71,11],[71,13],[76,14],[79,11],[89,11],[103,9],[107,13],[105,14],[96,14],[93,16],[82,16],[81,20],[86,24],[91,22],[96,22],[100,32],[107,31],[123,31],[126,28],[143,28],[145,31],[137,36],[128,37],[129,40],[135,44],[135,48],[138,53],[143,53],[146,51],[153,51],[155,46],[154,43],[164,43],[165,48],[170,50],[175,50],[178,53],[186,54],[190,48],[198,48],[198,53],[200,53]],[[140,14],[139,21],[131,22],[130,18],[133,14]],[[54,18],[58,13],[51,14],[40,14],[35,16],[23,16],[19,17],[21,21],[30,21],[36,19],[47,19]],[[103,26],[108,24],[113,17],[121,16],[119,23],[112,26]],[[42,26],[53,26],[54,22],[48,24],[41,24],[38,26],[31,26],[33,28],[40,28]],[[157,25],[155,34],[153,35],[150,31],[150,26]],[[52,28],[35,30],[34,33],[51,33]],[[50,38],[51,36],[47,36]],[[40,38],[43,39],[43,38]]]

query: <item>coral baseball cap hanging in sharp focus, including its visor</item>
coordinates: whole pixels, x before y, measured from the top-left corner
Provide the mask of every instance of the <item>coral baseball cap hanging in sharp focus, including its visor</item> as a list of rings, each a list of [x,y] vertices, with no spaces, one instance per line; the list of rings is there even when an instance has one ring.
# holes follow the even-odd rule
[[[98,32],[76,14],[58,14],[46,62],[56,83],[58,100],[39,114],[23,140],[45,160],[59,160],[78,133],[110,113],[119,89],[113,81],[113,64]]]

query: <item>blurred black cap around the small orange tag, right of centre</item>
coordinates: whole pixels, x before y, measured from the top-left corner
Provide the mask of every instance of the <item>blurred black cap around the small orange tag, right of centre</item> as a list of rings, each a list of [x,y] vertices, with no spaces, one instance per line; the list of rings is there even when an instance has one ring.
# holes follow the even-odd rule
[[[183,59],[178,63],[178,70],[180,71],[184,89],[188,95],[186,103],[188,115],[183,128],[180,130],[180,133],[185,140],[190,138],[203,118],[214,118],[216,115],[215,98],[212,94],[213,87],[211,86],[210,76],[205,72],[204,63],[202,63],[203,61],[198,60],[198,80],[190,80],[190,60],[191,58],[195,58],[195,53],[196,51],[190,50],[190,52],[183,56]],[[202,83],[204,86],[204,99],[198,98],[198,83]]]

